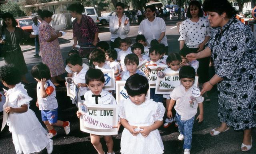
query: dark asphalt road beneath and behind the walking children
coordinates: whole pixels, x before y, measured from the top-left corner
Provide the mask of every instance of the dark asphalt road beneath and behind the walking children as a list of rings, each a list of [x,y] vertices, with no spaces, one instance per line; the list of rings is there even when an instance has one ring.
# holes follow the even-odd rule
[[[168,39],[168,49],[170,52],[178,52],[178,29],[176,26],[176,20],[166,21],[166,35]],[[102,41],[108,41],[110,38],[110,32],[108,26],[100,26],[99,37]],[[134,42],[138,32],[138,26],[130,26],[129,37]],[[66,59],[68,51],[72,48],[73,41],[65,41],[60,47],[62,51],[63,60]],[[31,68],[41,62],[41,58],[33,57],[34,50],[24,52],[25,61],[27,63],[29,71]],[[0,66],[4,65],[3,59],[0,59]],[[210,71],[212,73],[212,71]],[[35,107],[36,100],[36,81],[32,78],[30,73],[26,74],[26,77],[30,82],[34,82],[33,85],[27,87],[28,94],[33,98],[30,103],[30,109],[32,109],[36,116],[40,119],[40,112]],[[96,154],[96,150],[90,143],[90,136],[88,133],[80,131],[79,121],[76,117],[76,107],[71,104],[69,97],[66,96],[66,88],[57,88],[57,99],[59,104],[59,119],[69,120],[71,124],[70,134],[65,135],[63,128],[56,128],[58,135],[53,138],[54,150],[53,154]],[[255,154],[256,146],[253,144],[252,149],[249,152],[242,152],[240,146],[242,144],[242,131],[234,131],[233,129],[227,132],[221,133],[218,136],[210,136],[209,132],[213,128],[218,127],[220,124],[217,117],[218,103],[216,90],[212,90],[210,93],[210,103],[204,103],[204,121],[202,123],[194,122],[193,138],[192,138],[192,154]],[[2,116],[0,116],[0,122],[2,123]],[[1,125],[1,124],[0,124]],[[44,126],[44,125],[43,125]],[[171,125],[169,128],[160,127],[160,134],[164,142],[165,154],[182,154],[183,153],[183,142],[178,140],[178,129]],[[113,136],[114,140],[114,152],[119,154],[120,152],[120,139],[122,129],[118,135]],[[252,138],[255,139],[256,131],[252,130]],[[107,148],[102,140],[103,148],[106,152]],[[132,148],[132,147],[131,147]],[[14,154],[15,149],[12,143],[11,133],[8,131],[8,127],[0,132],[0,154]],[[42,154],[46,154],[46,150],[42,151]]]

